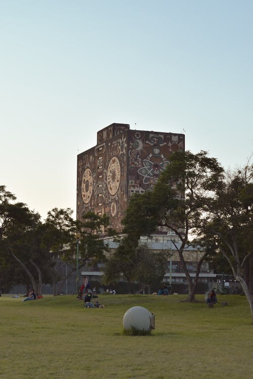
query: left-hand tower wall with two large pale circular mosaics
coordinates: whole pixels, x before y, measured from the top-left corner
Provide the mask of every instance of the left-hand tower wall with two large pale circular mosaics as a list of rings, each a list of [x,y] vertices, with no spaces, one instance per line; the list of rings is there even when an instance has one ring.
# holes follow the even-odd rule
[[[77,219],[88,211],[106,213],[111,227],[120,229],[128,199],[127,130],[120,129],[120,133],[113,134],[113,128],[103,129],[98,133],[101,143],[78,155]]]

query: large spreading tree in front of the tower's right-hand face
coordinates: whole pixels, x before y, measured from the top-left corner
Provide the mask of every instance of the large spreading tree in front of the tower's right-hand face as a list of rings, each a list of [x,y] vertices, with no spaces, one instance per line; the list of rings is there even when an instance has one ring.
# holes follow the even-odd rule
[[[175,232],[180,241],[175,244],[188,282],[187,301],[195,301],[195,290],[205,252],[198,261],[192,278],[184,258],[185,248],[196,245],[195,236],[201,229],[205,198],[213,193],[222,177],[223,168],[215,158],[201,151],[177,152],[168,158],[170,164],[158,179],[154,190],[130,199],[122,220],[123,232],[138,245],[141,235],[149,235],[160,227]]]

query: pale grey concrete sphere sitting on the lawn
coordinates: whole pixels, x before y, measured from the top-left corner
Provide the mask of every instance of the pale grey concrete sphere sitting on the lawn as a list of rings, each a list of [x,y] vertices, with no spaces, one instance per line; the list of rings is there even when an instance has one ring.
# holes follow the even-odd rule
[[[143,307],[132,307],[123,316],[123,326],[125,330],[135,327],[139,330],[148,331],[151,329],[152,314]]]

